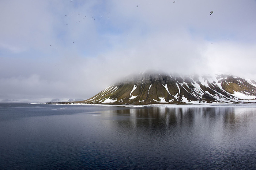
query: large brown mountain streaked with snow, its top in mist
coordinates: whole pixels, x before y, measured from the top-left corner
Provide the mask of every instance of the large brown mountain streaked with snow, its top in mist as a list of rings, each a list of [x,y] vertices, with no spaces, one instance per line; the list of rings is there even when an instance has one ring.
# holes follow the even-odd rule
[[[90,99],[95,104],[256,102],[256,82],[233,75],[143,73],[128,76]]]

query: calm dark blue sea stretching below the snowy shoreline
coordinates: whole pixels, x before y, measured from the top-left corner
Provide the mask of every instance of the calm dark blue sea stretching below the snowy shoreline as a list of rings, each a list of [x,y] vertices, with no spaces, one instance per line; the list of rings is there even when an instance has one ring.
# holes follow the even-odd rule
[[[256,169],[256,106],[1,103],[0,169]]]

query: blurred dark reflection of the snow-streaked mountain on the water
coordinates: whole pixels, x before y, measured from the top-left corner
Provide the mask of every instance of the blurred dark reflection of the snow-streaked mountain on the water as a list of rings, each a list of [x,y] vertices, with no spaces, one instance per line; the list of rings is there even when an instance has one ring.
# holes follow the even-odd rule
[[[115,114],[113,114],[115,112]],[[209,108],[135,108],[103,111],[118,128],[142,130],[185,130],[205,133],[213,131],[237,130],[251,121],[256,108],[209,107]],[[112,115],[112,116],[111,116]],[[102,115],[104,116],[104,114]],[[125,125],[125,126],[124,126]],[[207,127],[207,128],[206,128]],[[207,132],[208,130],[208,132]],[[189,133],[189,132],[188,132]]]

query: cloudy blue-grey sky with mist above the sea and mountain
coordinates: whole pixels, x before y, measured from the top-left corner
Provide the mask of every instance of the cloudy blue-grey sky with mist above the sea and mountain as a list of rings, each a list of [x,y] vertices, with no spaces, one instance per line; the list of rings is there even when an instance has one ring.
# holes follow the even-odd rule
[[[88,99],[148,69],[256,80],[256,0],[1,0],[0,24],[0,101]]]

